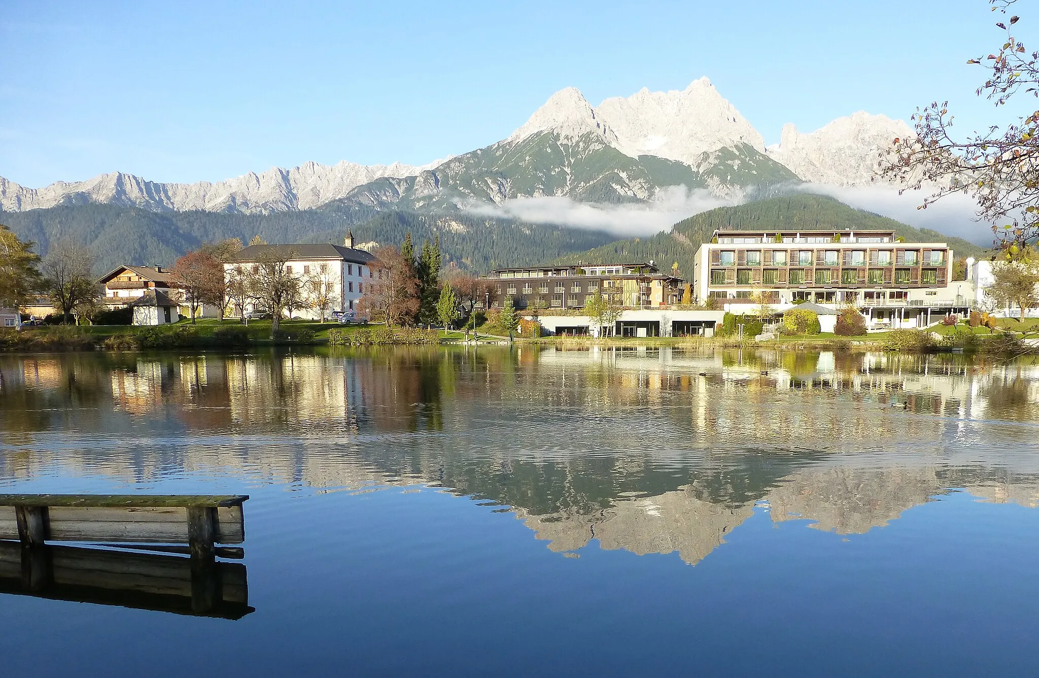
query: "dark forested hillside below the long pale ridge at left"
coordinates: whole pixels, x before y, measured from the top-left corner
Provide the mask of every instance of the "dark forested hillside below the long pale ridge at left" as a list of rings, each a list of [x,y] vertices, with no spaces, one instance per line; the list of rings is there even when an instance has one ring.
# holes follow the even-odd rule
[[[483,272],[495,266],[538,264],[572,252],[584,252],[613,239],[598,231],[525,224],[463,214],[425,216],[410,212],[376,212],[343,205],[273,214],[153,212],[116,205],[74,205],[2,212],[23,240],[46,254],[62,236],[90,245],[99,271],[121,264],[164,264],[205,241],[259,235],[268,242],[341,242],[352,228],[357,242],[399,243],[410,231],[421,242],[441,237],[445,265]]]

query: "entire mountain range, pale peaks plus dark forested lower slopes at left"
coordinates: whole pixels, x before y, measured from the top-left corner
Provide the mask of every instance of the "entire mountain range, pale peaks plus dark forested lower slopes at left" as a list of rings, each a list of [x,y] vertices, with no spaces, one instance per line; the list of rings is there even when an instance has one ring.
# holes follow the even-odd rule
[[[643,258],[662,260],[675,238],[688,236],[662,234],[635,247],[614,242],[597,217],[577,229],[552,210],[505,207],[522,205],[520,199],[562,199],[593,214],[619,212],[615,220],[624,220],[633,208],[670,215],[664,208],[676,186],[682,195],[709,198],[660,225],[667,226],[718,204],[803,193],[812,183],[873,183],[881,150],[910,132],[901,121],[858,112],[808,134],[788,125],[780,142],[766,147],[707,78],[681,92],[642,89],[598,106],[567,87],[506,138],[424,166],[308,162],[193,184],[114,173],[39,189],[0,178],[0,220],[36,242],[41,254],[61,237],[89,244],[101,268],[170,263],[225,237],[338,241],[348,227],[379,243],[399,242],[406,230],[419,238],[439,235],[446,260],[472,270],[580,257],[610,243],[615,252],[645,251]],[[663,247],[659,256],[647,243]]]

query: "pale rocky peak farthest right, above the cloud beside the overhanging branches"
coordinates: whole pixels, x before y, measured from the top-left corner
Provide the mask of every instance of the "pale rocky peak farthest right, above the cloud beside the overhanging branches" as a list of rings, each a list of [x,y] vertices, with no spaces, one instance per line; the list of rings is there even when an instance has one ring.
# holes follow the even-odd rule
[[[883,150],[890,148],[895,137],[912,133],[903,121],[858,111],[808,134],[783,125],[779,144],[770,146],[767,153],[804,181],[865,186],[876,177]]]

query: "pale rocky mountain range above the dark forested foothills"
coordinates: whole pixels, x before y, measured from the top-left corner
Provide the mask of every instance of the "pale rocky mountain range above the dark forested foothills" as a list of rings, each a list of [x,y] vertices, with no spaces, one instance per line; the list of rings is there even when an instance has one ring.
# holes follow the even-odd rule
[[[193,184],[111,173],[44,188],[0,178],[0,209],[108,203],[155,211],[255,214],[346,201],[377,209],[428,210],[543,195],[647,201],[680,184],[739,199],[750,188],[799,181],[868,184],[879,150],[909,131],[901,121],[858,112],[810,134],[788,125],[780,142],[766,148],[757,130],[707,78],[682,92],[642,89],[597,107],[567,87],[507,138],[424,166],[307,162]]]

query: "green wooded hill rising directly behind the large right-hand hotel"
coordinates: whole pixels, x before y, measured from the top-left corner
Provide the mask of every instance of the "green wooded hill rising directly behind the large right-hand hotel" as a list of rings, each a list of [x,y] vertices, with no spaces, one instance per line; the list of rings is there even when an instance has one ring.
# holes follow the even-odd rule
[[[678,221],[669,233],[617,240],[581,255],[560,257],[558,261],[605,264],[652,260],[662,269],[668,269],[673,262],[678,262],[678,269],[688,278],[693,272],[693,257],[696,251],[700,244],[711,239],[711,235],[717,229],[740,231],[889,229],[909,241],[948,242],[957,257],[980,257],[985,253],[984,247],[962,238],[945,236],[930,229],[915,229],[886,216],[849,207],[827,195],[796,193],[735,207],[719,207]]]

